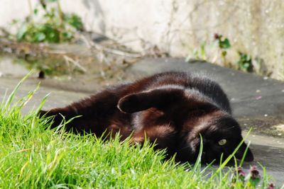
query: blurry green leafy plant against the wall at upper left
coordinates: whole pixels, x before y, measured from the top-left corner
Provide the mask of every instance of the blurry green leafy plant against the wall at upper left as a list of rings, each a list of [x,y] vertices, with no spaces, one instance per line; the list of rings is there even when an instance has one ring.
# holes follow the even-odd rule
[[[18,41],[65,42],[83,30],[82,20],[76,14],[63,13],[59,0],[41,0],[31,14],[19,23]]]

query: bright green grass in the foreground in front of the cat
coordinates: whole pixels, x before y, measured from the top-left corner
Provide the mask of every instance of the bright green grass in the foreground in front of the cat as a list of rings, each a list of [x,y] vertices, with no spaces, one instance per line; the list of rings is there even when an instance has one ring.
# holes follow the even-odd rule
[[[148,143],[134,147],[119,137],[45,130],[47,119],[39,119],[38,110],[20,111],[34,91],[11,105],[17,90],[0,105],[0,188],[254,188],[236,166],[176,164]],[[265,168],[257,185],[267,188]]]

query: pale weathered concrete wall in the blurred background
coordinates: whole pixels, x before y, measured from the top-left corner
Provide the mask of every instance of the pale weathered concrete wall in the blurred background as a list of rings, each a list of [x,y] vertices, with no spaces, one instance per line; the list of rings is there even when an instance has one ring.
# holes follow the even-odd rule
[[[32,1],[33,5],[36,1]],[[283,0],[62,0],[62,8],[82,16],[87,30],[104,33],[135,50],[158,45],[173,56],[191,55],[214,33],[231,41],[229,62],[245,52],[265,62],[273,77],[284,73]],[[0,26],[28,13],[28,1],[0,0]]]

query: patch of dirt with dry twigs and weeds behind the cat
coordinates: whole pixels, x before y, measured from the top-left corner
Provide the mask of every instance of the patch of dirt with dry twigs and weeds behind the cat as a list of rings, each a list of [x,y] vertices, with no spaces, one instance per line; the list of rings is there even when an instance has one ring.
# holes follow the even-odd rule
[[[38,71],[40,78],[45,78],[43,84],[84,92],[124,81],[125,69],[141,57],[112,40],[96,43],[85,35],[72,44],[49,45],[0,38],[0,53],[1,57],[11,59],[12,69],[18,64]],[[9,75],[18,76],[16,73]]]

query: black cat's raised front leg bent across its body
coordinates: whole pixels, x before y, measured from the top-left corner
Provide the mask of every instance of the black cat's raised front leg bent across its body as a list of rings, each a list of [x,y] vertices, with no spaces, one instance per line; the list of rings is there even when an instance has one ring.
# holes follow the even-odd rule
[[[148,108],[163,110],[184,98],[184,91],[178,88],[158,88],[152,91],[133,93],[119,100],[117,108],[123,113],[135,113]]]

